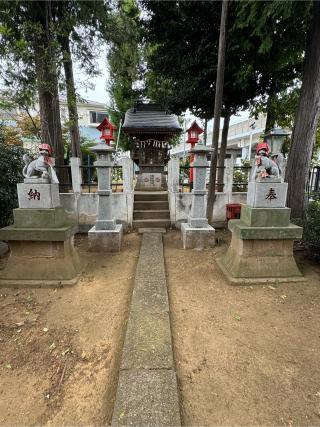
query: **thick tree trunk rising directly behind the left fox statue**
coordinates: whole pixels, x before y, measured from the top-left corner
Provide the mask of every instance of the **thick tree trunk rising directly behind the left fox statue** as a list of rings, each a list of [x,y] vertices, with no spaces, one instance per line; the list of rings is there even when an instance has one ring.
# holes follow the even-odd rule
[[[40,6],[39,6],[40,7]],[[59,166],[64,165],[64,147],[60,121],[57,64],[52,46],[50,32],[51,3],[45,2],[46,20],[43,32],[34,38],[35,68],[40,107],[41,140],[53,147],[58,177],[61,184],[68,181],[67,171]]]

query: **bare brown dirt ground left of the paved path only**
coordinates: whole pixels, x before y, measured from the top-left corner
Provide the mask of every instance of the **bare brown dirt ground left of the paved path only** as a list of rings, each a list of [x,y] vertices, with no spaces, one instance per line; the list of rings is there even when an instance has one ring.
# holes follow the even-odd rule
[[[140,237],[117,254],[87,252],[80,282],[0,289],[0,425],[105,425],[111,420]]]

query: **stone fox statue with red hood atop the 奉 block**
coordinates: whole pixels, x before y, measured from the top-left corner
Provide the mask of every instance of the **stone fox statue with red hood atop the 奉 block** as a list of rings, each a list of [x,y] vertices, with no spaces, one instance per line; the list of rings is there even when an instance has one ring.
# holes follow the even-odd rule
[[[270,148],[266,142],[261,142],[257,145],[256,153],[252,178],[254,180],[257,178],[280,178],[280,155],[274,156],[275,159],[279,159],[279,163],[270,159]]]

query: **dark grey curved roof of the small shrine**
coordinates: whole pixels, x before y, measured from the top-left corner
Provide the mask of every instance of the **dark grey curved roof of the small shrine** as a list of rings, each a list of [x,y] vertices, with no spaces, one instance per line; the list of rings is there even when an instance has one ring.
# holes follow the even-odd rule
[[[158,104],[136,104],[134,108],[130,108],[126,112],[122,129],[129,135],[174,134],[182,130],[177,116]]]

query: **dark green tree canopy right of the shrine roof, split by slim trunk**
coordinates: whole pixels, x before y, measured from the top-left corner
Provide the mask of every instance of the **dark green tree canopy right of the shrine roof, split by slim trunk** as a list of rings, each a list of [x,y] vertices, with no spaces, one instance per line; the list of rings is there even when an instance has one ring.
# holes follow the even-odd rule
[[[142,0],[147,94],[176,113],[213,116],[221,2]],[[224,109],[264,104],[301,77],[312,2],[230,2]],[[164,25],[165,23],[165,25]],[[257,98],[260,96],[260,98]]]

